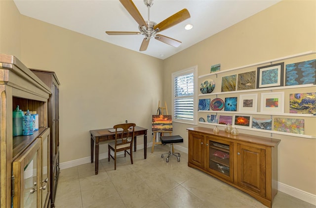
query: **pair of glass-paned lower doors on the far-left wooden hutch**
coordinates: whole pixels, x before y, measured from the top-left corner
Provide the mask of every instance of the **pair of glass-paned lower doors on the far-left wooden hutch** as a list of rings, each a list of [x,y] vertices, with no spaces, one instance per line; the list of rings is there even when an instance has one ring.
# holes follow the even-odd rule
[[[12,164],[13,207],[50,207],[47,162],[49,161],[49,129],[24,150]]]

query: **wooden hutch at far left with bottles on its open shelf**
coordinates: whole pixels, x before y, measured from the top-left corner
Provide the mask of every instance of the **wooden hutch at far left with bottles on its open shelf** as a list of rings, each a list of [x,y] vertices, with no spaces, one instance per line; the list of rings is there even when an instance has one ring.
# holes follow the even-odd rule
[[[41,180],[49,177],[49,175],[45,176],[45,169],[48,166],[44,167],[50,160],[47,152],[49,151],[49,130],[47,129],[49,94],[51,91],[47,85],[16,57],[0,54],[1,208],[12,206],[23,208],[23,205],[29,202],[32,202],[31,205],[36,205],[32,207],[46,207],[46,204],[49,207],[47,196],[50,197],[50,192],[44,190],[44,185],[47,187],[49,184],[43,184],[45,182]],[[39,114],[39,130],[34,131],[33,135],[13,137],[12,111],[17,104],[23,111],[29,109]],[[30,171],[27,172],[28,168]],[[38,191],[31,196],[30,190],[34,182]],[[31,198],[24,198],[25,196]],[[35,201],[33,196],[36,196]]]

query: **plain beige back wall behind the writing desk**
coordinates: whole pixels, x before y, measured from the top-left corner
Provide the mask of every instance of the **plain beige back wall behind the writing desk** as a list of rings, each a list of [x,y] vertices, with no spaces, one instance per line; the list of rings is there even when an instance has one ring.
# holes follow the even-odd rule
[[[60,162],[89,157],[89,130],[136,123],[151,139],[162,98],[162,61],[22,16],[22,61],[60,82]],[[138,139],[142,144],[143,139]],[[100,145],[100,153],[107,145]]]

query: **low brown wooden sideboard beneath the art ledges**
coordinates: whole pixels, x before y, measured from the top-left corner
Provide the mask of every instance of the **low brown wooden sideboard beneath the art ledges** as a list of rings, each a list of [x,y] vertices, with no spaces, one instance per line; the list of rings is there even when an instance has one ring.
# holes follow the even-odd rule
[[[208,173],[272,207],[277,193],[279,139],[196,127],[189,130],[188,166]]]

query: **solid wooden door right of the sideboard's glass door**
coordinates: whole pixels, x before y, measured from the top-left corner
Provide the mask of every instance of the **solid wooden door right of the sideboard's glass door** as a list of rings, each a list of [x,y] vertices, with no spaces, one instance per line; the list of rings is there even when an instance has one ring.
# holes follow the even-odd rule
[[[237,144],[237,183],[261,196],[266,195],[265,149]]]

